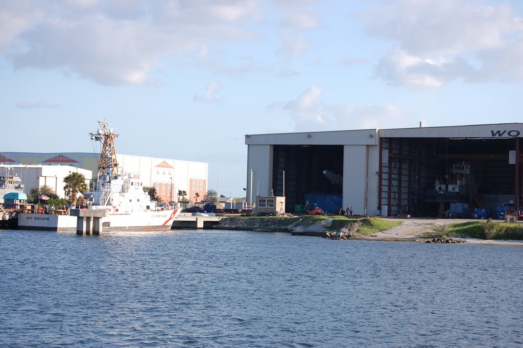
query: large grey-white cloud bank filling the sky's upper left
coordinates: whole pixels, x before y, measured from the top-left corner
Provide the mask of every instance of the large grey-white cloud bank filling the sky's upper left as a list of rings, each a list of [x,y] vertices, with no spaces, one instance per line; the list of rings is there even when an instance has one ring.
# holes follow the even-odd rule
[[[60,69],[106,85],[144,84],[162,57],[197,47],[204,57],[209,42],[252,38],[243,24],[261,18],[255,0],[4,4],[0,52],[16,68]]]

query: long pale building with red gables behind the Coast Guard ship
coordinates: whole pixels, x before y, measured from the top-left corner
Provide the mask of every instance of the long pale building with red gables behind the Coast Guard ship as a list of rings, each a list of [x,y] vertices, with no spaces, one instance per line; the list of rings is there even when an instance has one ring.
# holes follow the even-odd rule
[[[178,192],[185,191],[187,198],[191,201],[200,201],[207,192],[209,166],[203,162],[191,162],[172,159],[161,159],[144,156],[133,156],[116,154],[121,167],[127,172],[132,173],[135,178],[142,180],[145,186],[154,187],[157,195],[164,202],[178,201]],[[98,158],[94,153],[87,152],[60,152],[60,153],[37,153],[37,152],[4,152],[0,155],[0,163],[5,165],[41,165],[50,166],[48,170],[56,166],[61,166],[59,173],[65,173],[63,167],[68,171],[85,169],[92,172],[92,181],[96,181]],[[24,170],[20,170],[19,175],[25,181]],[[66,174],[69,172],[66,171]],[[56,176],[52,175],[53,178]],[[29,175],[28,175],[29,177]],[[63,179],[63,177],[62,177]],[[42,186],[43,184],[53,184],[54,181],[38,181],[35,183],[27,182],[26,193],[33,188],[33,184]],[[54,183],[54,187],[60,184]],[[63,186],[63,185],[62,185]]]

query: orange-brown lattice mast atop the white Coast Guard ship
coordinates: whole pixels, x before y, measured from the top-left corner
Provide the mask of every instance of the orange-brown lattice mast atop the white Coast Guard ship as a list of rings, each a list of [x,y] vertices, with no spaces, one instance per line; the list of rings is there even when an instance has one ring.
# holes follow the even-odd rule
[[[116,160],[115,138],[120,134],[108,127],[106,120],[98,121],[100,128],[97,133],[89,133],[91,139],[103,142],[98,160],[98,177],[107,175],[108,181],[121,175],[120,167]]]

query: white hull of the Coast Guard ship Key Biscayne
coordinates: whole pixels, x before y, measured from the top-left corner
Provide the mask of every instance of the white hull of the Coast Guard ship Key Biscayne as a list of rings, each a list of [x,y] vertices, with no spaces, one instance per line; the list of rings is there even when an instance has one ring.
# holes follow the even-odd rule
[[[181,209],[140,211],[101,218],[103,231],[169,231]],[[76,231],[76,217],[53,214],[20,214],[18,228],[43,231]]]

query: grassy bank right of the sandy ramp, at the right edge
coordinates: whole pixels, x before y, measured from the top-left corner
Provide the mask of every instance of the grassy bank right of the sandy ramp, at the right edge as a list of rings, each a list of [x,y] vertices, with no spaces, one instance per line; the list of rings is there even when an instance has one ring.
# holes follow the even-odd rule
[[[520,223],[500,223],[491,219],[452,223],[437,232],[449,237],[523,240],[523,226]]]

